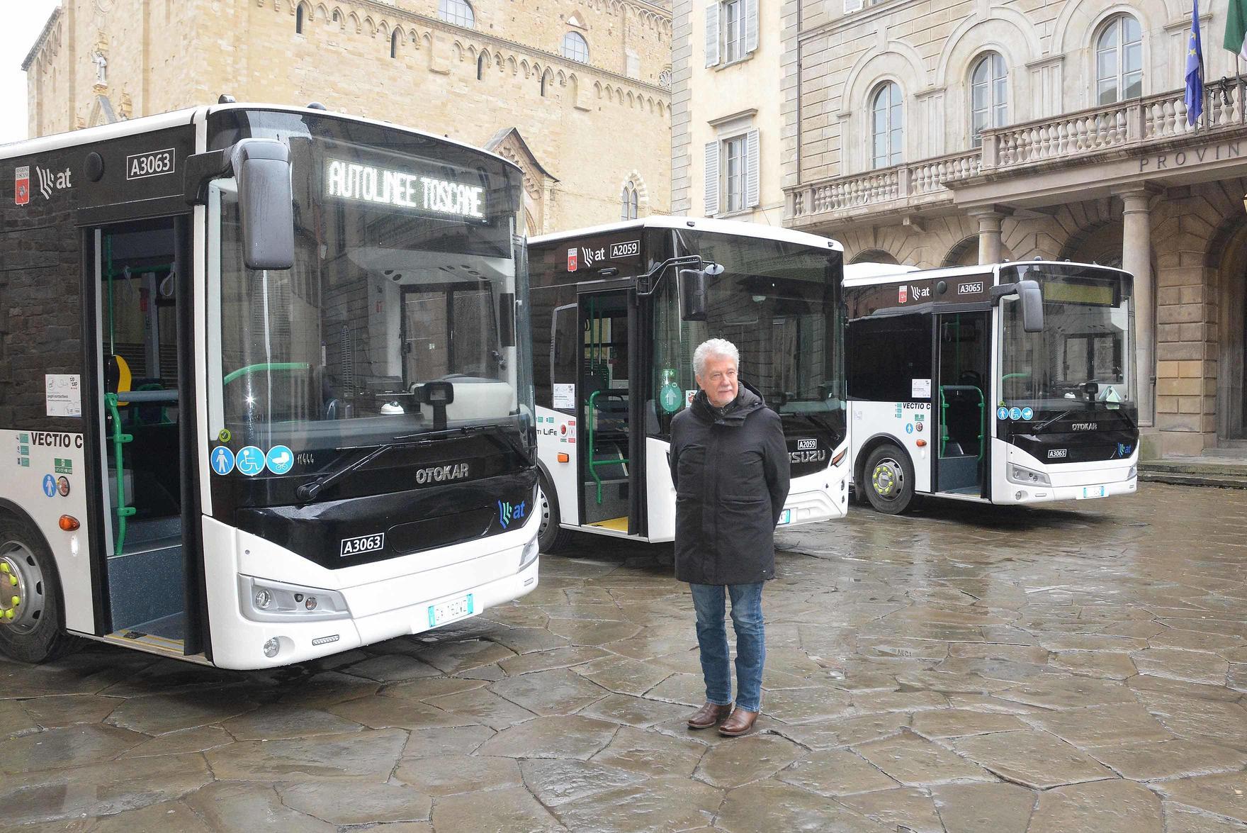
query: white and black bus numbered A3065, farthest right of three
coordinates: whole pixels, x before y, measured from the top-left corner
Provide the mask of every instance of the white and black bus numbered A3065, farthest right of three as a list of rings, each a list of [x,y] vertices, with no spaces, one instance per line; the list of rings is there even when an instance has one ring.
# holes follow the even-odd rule
[[[1129,273],[853,264],[844,301],[854,493],[880,513],[1135,493]]]

